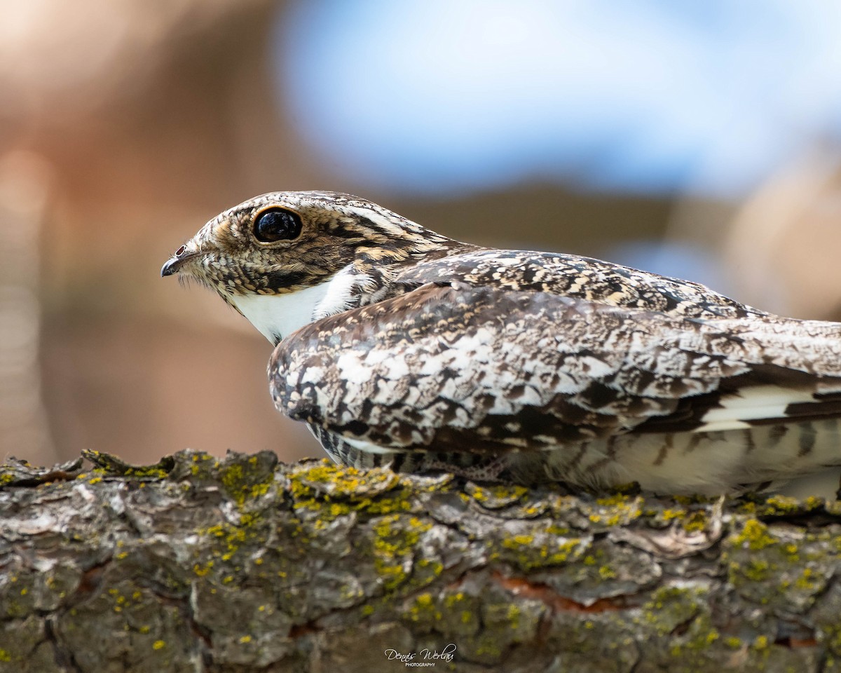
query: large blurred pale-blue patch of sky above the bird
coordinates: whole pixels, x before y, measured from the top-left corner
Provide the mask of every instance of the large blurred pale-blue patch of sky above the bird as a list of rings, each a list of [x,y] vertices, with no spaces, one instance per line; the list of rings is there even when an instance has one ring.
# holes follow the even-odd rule
[[[841,136],[834,0],[299,0],[274,44],[279,103],[366,187],[731,197]]]

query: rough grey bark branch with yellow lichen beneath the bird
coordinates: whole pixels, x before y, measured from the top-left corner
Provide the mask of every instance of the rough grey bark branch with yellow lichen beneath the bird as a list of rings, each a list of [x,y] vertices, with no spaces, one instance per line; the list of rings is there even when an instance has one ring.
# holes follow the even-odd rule
[[[0,671],[841,670],[834,502],[87,458],[0,469]]]

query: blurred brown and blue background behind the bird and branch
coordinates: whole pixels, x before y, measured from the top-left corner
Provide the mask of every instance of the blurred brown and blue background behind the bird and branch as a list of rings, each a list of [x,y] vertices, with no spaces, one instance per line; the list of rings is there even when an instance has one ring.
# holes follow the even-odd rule
[[[0,452],[321,455],[269,343],[158,276],[316,188],[841,319],[841,4],[0,3]]]

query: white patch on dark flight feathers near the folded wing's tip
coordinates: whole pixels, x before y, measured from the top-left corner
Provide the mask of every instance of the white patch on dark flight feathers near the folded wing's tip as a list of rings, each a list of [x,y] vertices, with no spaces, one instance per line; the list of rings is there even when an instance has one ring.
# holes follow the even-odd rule
[[[722,406],[707,411],[701,417],[703,425],[695,432],[714,432],[717,430],[736,430],[750,427],[745,421],[779,418],[785,419],[788,405],[814,402],[812,394],[805,390],[792,390],[779,385],[754,385],[738,390],[732,395],[724,395],[719,404]]]

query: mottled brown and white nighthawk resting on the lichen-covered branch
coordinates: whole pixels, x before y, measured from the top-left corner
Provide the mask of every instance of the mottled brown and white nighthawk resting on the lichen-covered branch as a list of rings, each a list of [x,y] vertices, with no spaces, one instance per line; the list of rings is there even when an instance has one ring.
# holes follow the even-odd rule
[[[453,241],[331,192],[226,210],[164,264],[173,273],[275,344],[275,405],[339,463],[673,493],[841,464],[838,323]]]

